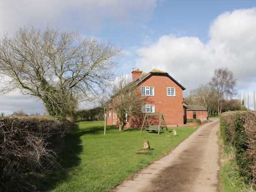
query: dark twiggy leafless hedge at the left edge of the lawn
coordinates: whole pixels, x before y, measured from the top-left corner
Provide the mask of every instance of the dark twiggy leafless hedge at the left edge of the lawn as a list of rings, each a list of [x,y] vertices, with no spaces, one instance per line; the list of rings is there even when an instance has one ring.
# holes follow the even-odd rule
[[[0,191],[36,191],[25,176],[56,166],[64,128],[52,118],[0,118]]]

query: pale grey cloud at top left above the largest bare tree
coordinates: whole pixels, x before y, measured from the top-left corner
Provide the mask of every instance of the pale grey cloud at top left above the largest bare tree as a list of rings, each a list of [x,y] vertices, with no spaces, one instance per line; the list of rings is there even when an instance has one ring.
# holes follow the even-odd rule
[[[2,0],[0,34],[28,24],[97,31],[104,26],[133,25],[147,20],[157,0]]]

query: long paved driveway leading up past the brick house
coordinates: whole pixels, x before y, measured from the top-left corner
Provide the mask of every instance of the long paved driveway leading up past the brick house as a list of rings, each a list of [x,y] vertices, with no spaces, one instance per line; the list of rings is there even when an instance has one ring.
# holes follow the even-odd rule
[[[218,191],[219,119],[202,125],[169,155],[140,170],[113,191]]]

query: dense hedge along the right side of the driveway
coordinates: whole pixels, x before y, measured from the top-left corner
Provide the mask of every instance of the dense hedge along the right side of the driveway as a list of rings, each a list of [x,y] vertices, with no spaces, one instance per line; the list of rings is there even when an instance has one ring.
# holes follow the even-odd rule
[[[235,150],[238,172],[246,181],[251,181],[255,185],[256,111],[223,113],[220,119],[220,132],[224,144]]]

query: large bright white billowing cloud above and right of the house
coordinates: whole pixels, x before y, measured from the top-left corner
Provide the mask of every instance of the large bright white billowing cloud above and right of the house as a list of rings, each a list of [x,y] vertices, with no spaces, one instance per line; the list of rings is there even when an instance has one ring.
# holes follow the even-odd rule
[[[255,90],[256,8],[219,15],[210,25],[209,37],[204,44],[197,37],[164,35],[137,49],[136,66],[146,72],[165,70],[188,90],[210,81],[215,68],[228,67],[238,89]]]

